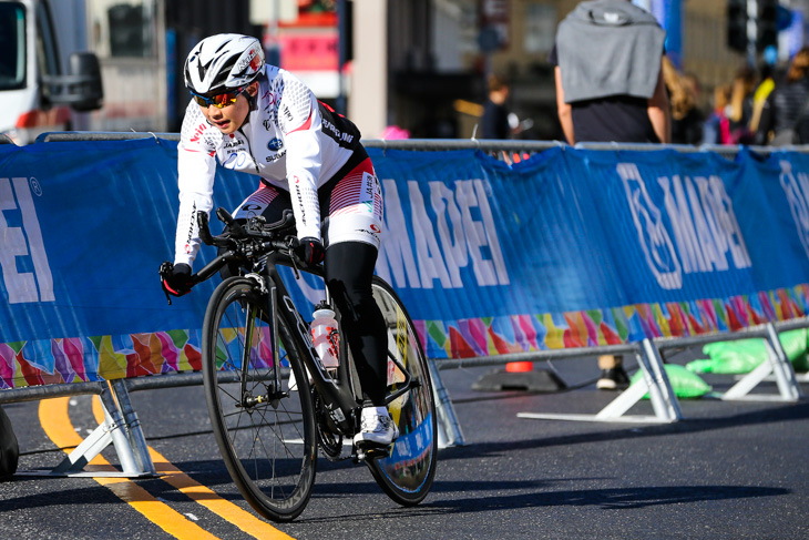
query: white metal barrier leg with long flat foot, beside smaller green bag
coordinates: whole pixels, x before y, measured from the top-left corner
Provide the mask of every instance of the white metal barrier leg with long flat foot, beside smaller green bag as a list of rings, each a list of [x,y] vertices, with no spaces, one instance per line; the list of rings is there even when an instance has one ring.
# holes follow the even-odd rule
[[[576,420],[576,421],[614,421],[642,424],[669,424],[680,420],[677,398],[672,390],[668,376],[663,367],[663,359],[649,339],[644,339],[641,350],[635,356],[643,371],[643,379],[629,386],[618,397],[610,401],[596,415],[544,415],[536,412],[519,412],[519,418],[535,420]],[[645,395],[649,394],[655,416],[625,415]]]

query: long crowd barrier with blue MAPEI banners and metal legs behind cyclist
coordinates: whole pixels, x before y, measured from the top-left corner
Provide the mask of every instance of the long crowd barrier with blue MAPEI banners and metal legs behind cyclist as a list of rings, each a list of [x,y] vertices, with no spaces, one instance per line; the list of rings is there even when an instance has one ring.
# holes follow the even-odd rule
[[[126,393],[201,380],[214,284],[168,307],[156,276],[173,254],[176,141],[81,133],[0,144],[0,403],[100,394],[110,425],[69,457],[70,472],[112,442],[132,454],[129,473],[149,473]],[[807,325],[805,147],[367,146],[386,201],[377,273],[430,358],[442,445],[463,441],[439,375],[449,367],[634,355],[643,383],[588,418],[631,419],[648,391],[655,416],[635,419],[675,421],[660,349],[761,336],[771,361],[726,397],[749,396],[768,375],[776,398],[800,397],[777,333]],[[221,167],[215,205],[235,208],[255,187]],[[296,303],[306,309],[321,286],[299,283]],[[175,375],[145,377],[163,374]],[[126,436],[107,437],[110,426]]]

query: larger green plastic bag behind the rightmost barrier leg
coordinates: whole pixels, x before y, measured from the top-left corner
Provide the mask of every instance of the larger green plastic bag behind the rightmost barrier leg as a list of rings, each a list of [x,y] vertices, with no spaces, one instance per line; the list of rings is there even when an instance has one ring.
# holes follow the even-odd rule
[[[787,358],[796,371],[809,371],[807,359],[807,329],[782,332],[781,342]],[[762,338],[710,343],[703,347],[708,359],[693,360],[686,368],[694,373],[746,374],[767,359],[767,345]]]

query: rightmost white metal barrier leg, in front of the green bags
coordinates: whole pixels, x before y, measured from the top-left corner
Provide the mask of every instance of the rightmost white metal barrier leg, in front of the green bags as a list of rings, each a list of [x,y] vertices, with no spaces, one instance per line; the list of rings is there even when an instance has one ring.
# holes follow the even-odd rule
[[[778,332],[772,323],[767,324],[767,359],[756,369],[745,375],[729,390],[721,395],[726,401],[797,401],[802,397],[792,364],[784,351]],[[774,375],[778,385],[778,396],[750,394],[756,386]]]

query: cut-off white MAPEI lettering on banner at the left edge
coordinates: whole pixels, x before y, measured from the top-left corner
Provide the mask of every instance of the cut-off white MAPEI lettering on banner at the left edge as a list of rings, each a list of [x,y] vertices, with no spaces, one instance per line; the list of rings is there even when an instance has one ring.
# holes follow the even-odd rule
[[[0,177],[0,267],[9,304],[55,299],[34,195],[42,195],[37,179]]]

